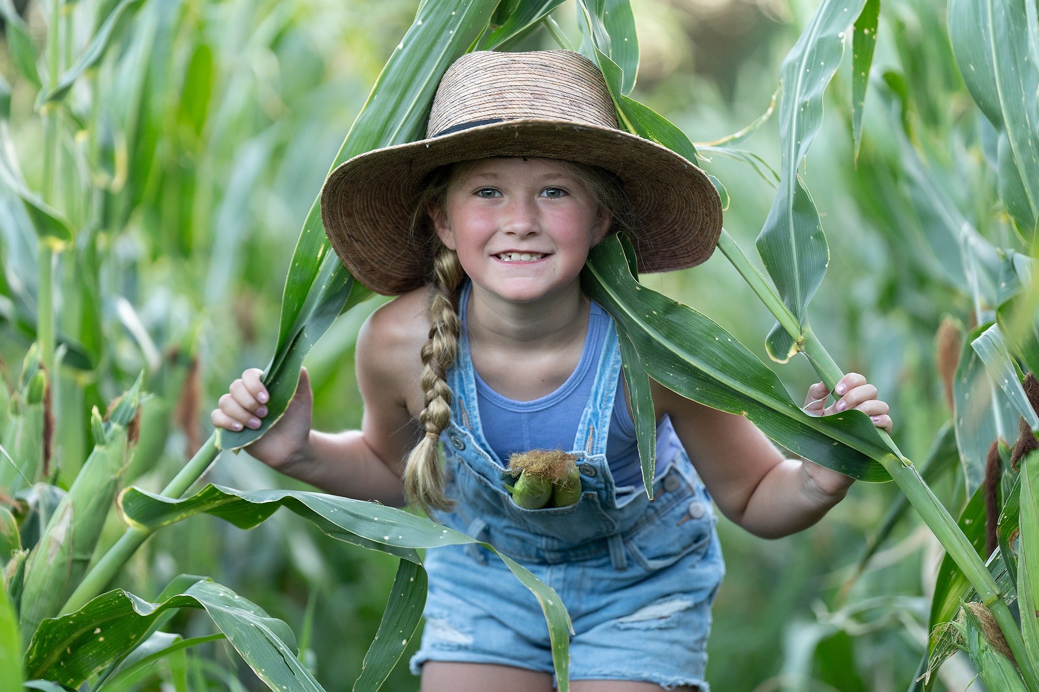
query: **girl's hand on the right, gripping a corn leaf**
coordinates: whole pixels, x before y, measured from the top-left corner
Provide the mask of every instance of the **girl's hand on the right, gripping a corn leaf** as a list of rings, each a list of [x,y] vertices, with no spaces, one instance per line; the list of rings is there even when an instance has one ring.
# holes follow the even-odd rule
[[[841,378],[834,389],[841,398],[834,402],[833,406],[824,408],[830,390],[822,382],[817,382],[808,387],[808,395],[804,399],[804,411],[812,416],[828,416],[848,409],[858,409],[870,416],[874,425],[883,427],[890,434],[893,425],[891,417],[888,415],[890,407],[877,398],[877,388],[868,383],[864,377],[858,372],[849,372]],[[810,462],[802,464],[801,470],[807,476],[805,478],[807,482],[828,496],[844,497],[848,488],[854,482],[852,478],[843,473]]]

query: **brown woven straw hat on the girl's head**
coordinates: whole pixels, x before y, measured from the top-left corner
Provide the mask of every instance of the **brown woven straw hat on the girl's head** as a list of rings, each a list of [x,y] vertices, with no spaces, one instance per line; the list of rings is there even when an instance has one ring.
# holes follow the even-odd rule
[[[432,224],[410,228],[424,178],[445,164],[485,157],[564,159],[617,174],[638,227],[640,272],[698,265],[721,232],[721,200],[692,162],[617,129],[603,74],[572,51],[477,51],[455,60],[436,89],[426,139],[353,157],[321,191],[336,253],[369,288],[389,296],[423,285]]]

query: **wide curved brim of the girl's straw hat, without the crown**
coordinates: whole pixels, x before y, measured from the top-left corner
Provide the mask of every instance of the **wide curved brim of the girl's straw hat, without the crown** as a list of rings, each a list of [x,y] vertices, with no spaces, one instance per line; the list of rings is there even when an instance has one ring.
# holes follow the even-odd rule
[[[416,204],[438,166],[486,157],[542,157],[605,168],[621,181],[640,272],[686,269],[711,256],[721,233],[717,190],[674,151],[621,130],[545,118],[482,124],[353,157],[328,174],[321,220],[340,259],[376,293],[398,296],[429,279],[435,244]]]

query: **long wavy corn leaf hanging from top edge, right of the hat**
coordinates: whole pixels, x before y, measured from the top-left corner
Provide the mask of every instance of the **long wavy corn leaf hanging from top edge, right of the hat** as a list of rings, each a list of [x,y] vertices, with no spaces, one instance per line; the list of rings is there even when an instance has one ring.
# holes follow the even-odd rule
[[[819,211],[797,169],[822,126],[823,91],[841,64],[844,34],[864,2],[824,0],[779,70],[783,91],[779,101],[781,182],[756,245],[802,333],[807,328],[808,302],[829,264],[829,248]],[[799,341],[776,325],[766,345],[770,357],[785,362],[800,350]]]

